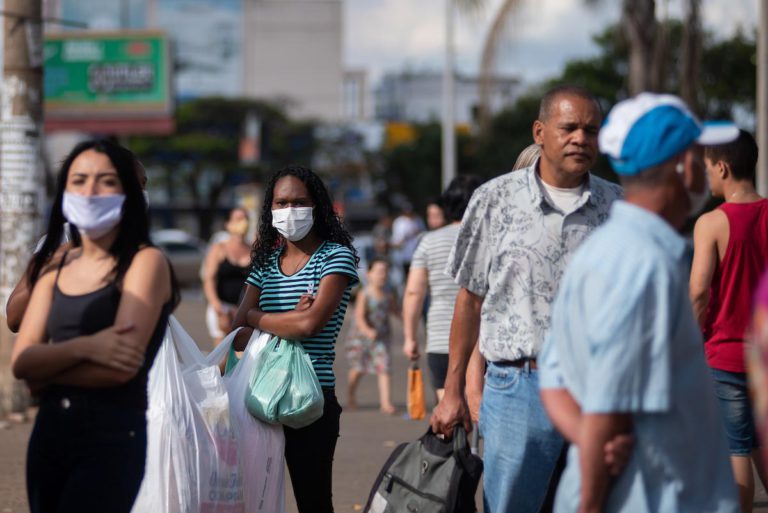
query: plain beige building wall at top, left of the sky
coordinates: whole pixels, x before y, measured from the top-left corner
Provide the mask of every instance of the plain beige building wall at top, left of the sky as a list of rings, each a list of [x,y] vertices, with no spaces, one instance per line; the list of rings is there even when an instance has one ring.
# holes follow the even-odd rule
[[[243,0],[243,92],[291,115],[342,115],[341,0]]]

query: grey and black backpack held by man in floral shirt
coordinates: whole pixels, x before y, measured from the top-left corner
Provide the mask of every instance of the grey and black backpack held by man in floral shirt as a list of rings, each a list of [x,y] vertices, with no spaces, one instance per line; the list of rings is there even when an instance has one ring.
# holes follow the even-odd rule
[[[430,428],[415,442],[400,444],[373,485],[364,513],[475,513],[483,461],[472,454],[462,426],[453,440]]]

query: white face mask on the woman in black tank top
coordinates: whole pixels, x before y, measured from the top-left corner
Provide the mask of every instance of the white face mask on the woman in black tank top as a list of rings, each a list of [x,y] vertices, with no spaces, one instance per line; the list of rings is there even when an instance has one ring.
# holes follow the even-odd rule
[[[82,235],[95,240],[117,226],[123,217],[124,202],[125,194],[82,196],[65,192],[61,209]]]

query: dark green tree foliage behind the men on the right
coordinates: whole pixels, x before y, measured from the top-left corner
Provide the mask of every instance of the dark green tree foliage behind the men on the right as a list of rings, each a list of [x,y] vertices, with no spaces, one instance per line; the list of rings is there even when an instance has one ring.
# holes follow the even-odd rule
[[[683,23],[669,20],[661,27],[668,38],[663,55],[665,72],[658,77],[660,89],[678,94]],[[591,91],[604,112],[629,96],[629,44],[619,25],[607,27],[593,38],[599,48],[596,56],[566,63],[562,73],[536,84],[508,109],[497,113],[484,134],[459,139],[459,173],[475,173],[492,178],[509,171],[517,155],[533,142],[531,128],[538,114],[542,93],[558,84],[575,84]],[[727,40],[704,35],[701,72],[696,92],[698,114],[707,119],[730,119],[754,113],[756,87],[756,47],[754,39],[736,34]],[[440,132],[437,125],[416,129],[412,142],[386,151],[385,176],[391,191],[400,191],[423,207],[427,198],[440,190]],[[595,174],[615,179],[607,160],[601,157]]]

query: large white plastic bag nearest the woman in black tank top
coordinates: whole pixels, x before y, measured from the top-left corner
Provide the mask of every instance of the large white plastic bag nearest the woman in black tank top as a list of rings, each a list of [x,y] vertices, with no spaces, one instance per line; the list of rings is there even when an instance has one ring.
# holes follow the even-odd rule
[[[149,373],[147,462],[134,513],[246,513],[237,426],[217,363],[175,317]],[[256,510],[254,510],[256,511]]]

